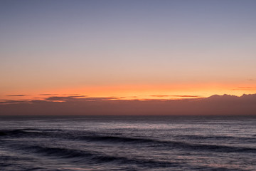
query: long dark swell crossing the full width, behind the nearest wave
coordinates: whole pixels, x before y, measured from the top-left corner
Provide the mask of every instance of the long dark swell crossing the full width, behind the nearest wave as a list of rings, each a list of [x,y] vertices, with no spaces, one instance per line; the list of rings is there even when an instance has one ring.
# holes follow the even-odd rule
[[[84,135],[87,134],[87,135]],[[37,130],[37,129],[21,129],[21,130],[1,130],[0,137],[5,136],[15,136],[16,138],[22,136],[28,137],[41,137],[46,136],[48,138],[65,138],[69,140],[85,140],[93,142],[108,142],[113,145],[116,143],[121,143],[125,145],[153,145],[154,147],[169,147],[169,148],[179,148],[184,150],[208,150],[213,152],[256,152],[256,148],[252,147],[235,147],[226,145],[210,145],[210,144],[193,144],[183,141],[174,140],[156,140],[151,138],[130,138],[124,136],[112,136],[112,135],[97,135],[92,132],[78,132],[70,133],[61,130]],[[186,135],[186,141],[191,140],[191,138],[207,138],[198,135]],[[214,138],[214,137],[208,137]],[[217,137],[220,138],[220,137]]]

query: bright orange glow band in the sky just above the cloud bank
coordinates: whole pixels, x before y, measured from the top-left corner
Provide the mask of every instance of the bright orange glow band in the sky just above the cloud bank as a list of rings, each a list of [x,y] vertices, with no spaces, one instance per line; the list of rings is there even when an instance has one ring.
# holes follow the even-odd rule
[[[44,100],[50,96],[113,97],[121,100],[207,98],[210,95],[242,95],[256,93],[256,86],[238,84],[172,84],[172,85],[117,85],[80,86],[74,88],[53,88],[12,92],[2,94],[2,100]]]

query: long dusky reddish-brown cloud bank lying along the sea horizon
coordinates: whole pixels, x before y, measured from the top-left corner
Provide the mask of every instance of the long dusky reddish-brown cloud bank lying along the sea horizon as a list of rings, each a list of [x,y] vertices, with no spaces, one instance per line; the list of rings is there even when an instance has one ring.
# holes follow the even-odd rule
[[[256,94],[179,100],[120,100],[86,95],[1,100],[0,115],[256,115]]]

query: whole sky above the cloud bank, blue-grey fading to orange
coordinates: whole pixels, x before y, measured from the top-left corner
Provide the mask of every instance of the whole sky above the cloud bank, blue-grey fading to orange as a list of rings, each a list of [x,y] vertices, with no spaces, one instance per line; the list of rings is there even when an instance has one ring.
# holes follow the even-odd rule
[[[0,100],[256,93],[256,1],[0,1]]]

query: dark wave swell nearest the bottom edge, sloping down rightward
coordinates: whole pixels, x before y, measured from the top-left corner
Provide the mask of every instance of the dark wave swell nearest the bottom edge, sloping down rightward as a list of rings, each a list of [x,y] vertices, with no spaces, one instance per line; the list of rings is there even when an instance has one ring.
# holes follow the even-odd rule
[[[77,150],[77,149],[69,149],[64,147],[45,147],[41,145],[31,145],[31,146],[23,146],[20,147],[19,150],[25,150],[28,152],[33,152],[36,155],[43,155],[45,157],[53,157],[54,159],[66,159],[66,162],[73,162],[75,165],[79,165],[80,163],[84,164],[102,164],[102,163],[111,163],[113,165],[138,165],[141,167],[148,168],[156,168],[156,167],[171,167],[171,168],[179,168],[181,165],[185,167],[190,167],[191,170],[234,170],[227,167],[213,167],[210,165],[187,165],[185,162],[177,161],[177,162],[169,162],[169,161],[161,161],[154,160],[145,157],[123,157],[123,156],[114,156],[107,155],[103,152],[89,151],[89,150]],[[21,158],[16,157],[11,160],[16,159],[20,160]],[[22,157],[24,160],[24,158]],[[0,162],[1,163],[1,162]],[[11,166],[11,165],[6,165]],[[39,168],[39,167],[38,167]],[[41,168],[41,167],[40,167]],[[239,169],[236,169],[240,171]]]

